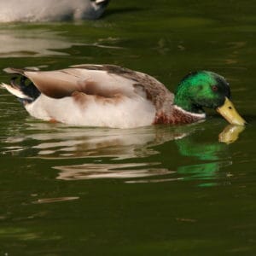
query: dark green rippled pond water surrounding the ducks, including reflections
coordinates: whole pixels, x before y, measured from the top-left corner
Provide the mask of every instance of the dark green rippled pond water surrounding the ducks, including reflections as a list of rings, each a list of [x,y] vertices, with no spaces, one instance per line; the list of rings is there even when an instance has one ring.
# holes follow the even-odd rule
[[[255,255],[254,1],[112,1],[101,20],[0,25],[0,69],[110,63],[170,90],[207,69],[249,125],[69,127],[0,90],[0,255]],[[9,77],[0,73],[0,79]]]

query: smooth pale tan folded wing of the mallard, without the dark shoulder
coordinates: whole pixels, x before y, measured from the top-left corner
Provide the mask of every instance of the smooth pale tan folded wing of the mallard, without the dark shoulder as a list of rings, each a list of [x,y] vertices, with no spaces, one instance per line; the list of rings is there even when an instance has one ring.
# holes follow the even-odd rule
[[[132,81],[103,70],[67,68],[49,72],[25,71],[24,74],[44,95],[54,98],[71,96],[74,91],[105,97],[134,94]]]

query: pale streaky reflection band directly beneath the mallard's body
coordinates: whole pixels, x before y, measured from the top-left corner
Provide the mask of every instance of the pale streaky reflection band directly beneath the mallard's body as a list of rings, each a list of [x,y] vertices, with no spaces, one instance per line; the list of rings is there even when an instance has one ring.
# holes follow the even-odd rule
[[[5,154],[21,154],[44,159],[111,158],[125,160],[157,154],[155,145],[186,137],[196,125],[184,127],[147,126],[136,129],[67,127],[61,124],[28,123],[21,137],[9,137]],[[45,132],[49,131],[49,132]],[[50,132],[53,131],[53,132]],[[32,142],[26,147],[26,142]]]

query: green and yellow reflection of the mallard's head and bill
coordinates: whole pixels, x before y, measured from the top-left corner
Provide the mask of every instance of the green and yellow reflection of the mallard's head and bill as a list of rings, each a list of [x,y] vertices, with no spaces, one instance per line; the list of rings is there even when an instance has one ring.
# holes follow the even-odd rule
[[[200,138],[184,137],[182,140],[177,140],[177,147],[183,156],[192,157],[200,160],[198,163],[182,165],[177,167],[177,173],[183,175],[183,179],[200,179],[205,180],[201,186],[212,186],[216,184],[214,179],[224,166],[232,165],[228,153],[227,144],[236,142],[239,134],[244,130],[240,125],[227,125],[218,135],[218,141],[207,143],[205,139],[200,142]],[[196,137],[196,134],[195,134]],[[224,174],[230,176],[230,174]]]

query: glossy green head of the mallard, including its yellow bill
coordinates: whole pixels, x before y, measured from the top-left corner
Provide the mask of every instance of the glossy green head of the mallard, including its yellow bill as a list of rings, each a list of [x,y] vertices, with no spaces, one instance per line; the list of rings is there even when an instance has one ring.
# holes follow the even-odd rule
[[[189,73],[178,85],[174,104],[191,113],[213,108],[233,125],[245,125],[230,102],[230,86],[224,77],[209,71]]]

